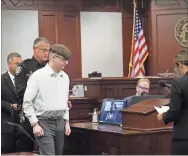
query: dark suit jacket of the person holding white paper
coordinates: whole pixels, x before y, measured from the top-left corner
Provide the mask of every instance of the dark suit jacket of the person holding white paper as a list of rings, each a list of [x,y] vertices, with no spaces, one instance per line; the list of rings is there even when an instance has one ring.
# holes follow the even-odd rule
[[[173,139],[188,140],[188,72],[172,82],[170,109],[163,114],[163,121],[174,122]]]

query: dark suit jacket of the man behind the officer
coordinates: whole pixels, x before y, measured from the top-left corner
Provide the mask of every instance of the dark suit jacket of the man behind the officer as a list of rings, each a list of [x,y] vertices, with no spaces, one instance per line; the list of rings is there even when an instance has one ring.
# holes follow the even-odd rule
[[[16,103],[16,90],[8,72],[1,75],[1,133],[12,133],[15,129],[3,121],[12,121],[11,104]]]

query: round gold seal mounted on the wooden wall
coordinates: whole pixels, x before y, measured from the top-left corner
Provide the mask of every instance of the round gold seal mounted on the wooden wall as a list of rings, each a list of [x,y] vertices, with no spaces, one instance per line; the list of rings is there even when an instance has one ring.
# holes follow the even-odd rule
[[[188,17],[182,18],[175,27],[176,40],[184,47],[188,47]]]

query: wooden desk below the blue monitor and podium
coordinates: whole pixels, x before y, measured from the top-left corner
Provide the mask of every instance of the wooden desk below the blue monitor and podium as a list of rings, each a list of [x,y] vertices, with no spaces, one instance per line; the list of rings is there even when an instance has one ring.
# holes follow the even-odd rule
[[[73,123],[71,129],[65,139],[65,154],[170,154],[171,130],[135,131],[92,123]]]

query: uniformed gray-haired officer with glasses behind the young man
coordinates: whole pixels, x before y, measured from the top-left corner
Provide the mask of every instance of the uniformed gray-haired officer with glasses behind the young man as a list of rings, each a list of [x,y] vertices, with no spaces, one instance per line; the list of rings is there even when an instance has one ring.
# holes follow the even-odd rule
[[[23,96],[27,86],[27,80],[38,69],[44,67],[48,60],[48,52],[50,49],[50,42],[44,37],[35,39],[33,43],[33,57],[26,59],[20,63],[16,70],[15,85],[17,90],[17,103],[22,105]],[[22,126],[25,130],[32,135],[32,127],[29,122],[23,122]],[[33,142],[23,133],[18,133],[18,151],[32,152],[34,148]]]

